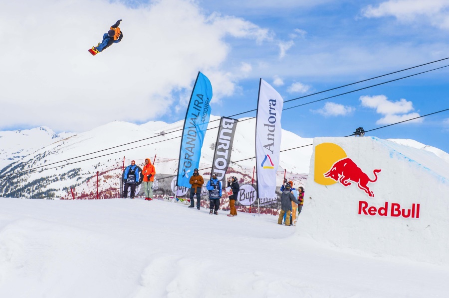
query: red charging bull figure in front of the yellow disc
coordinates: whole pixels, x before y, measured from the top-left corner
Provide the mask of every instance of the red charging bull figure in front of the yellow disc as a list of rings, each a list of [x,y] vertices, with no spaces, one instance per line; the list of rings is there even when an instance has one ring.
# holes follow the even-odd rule
[[[377,173],[381,170],[374,170],[374,180],[371,180],[367,174],[365,174],[355,162],[350,158],[344,158],[337,161],[332,165],[331,169],[324,174],[324,177],[331,178],[340,182],[343,186],[348,187],[352,183],[357,183],[359,189],[365,191],[368,196],[374,197],[374,193],[368,187],[368,183],[374,183],[377,181]]]

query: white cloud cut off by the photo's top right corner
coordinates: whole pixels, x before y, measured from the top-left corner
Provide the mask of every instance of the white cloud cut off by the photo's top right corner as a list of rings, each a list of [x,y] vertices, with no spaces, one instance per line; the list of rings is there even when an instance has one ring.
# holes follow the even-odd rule
[[[365,17],[394,16],[400,21],[424,20],[433,26],[449,29],[448,0],[388,0],[362,10]]]

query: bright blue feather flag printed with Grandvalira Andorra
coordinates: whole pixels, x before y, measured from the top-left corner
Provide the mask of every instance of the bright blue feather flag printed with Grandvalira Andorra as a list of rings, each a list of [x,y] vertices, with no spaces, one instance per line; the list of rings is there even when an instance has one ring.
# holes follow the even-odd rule
[[[179,151],[178,179],[176,182],[179,187],[191,187],[190,176],[192,176],[193,170],[200,165],[201,148],[211,116],[211,106],[209,105],[211,99],[211,82],[205,75],[198,72],[187,107]]]

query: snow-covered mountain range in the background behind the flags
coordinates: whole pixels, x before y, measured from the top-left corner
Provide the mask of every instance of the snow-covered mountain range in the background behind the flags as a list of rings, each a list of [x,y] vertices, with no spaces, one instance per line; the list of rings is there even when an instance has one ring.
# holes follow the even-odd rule
[[[211,116],[201,163],[212,163],[218,132],[215,127],[218,127],[219,119],[218,116]],[[171,124],[150,121],[136,125],[114,121],[90,131],[58,135],[46,127],[20,132],[0,132],[3,150],[1,158],[5,163],[0,171],[0,196],[59,197],[65,195],[70,186],[79,185],[92,177],[96,171],[122,165],[124,157],[143,160],[157,155],[177,159],[183,123],[183,120]],[[239,162],[231,164],[231,167],[246,169],[254,167],[254,131],[254,118],[239,119],[231,155],[232,161]],[[449,154],[440,149],[413,140],[392,141],[434,152],[449,163]],[[311,138],[302,138],[283,130],[281,151],[305,147],[281,152],[279,170],[286,169],[293,173],[307,174],[312,155],[311,144]],[[12,175],[30,169],[34,170],[31,173]]]

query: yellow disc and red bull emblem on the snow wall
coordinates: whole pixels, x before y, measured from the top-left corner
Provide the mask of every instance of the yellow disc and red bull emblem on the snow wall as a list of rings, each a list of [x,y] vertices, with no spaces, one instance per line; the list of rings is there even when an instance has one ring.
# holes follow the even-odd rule
[[[374,193],[368,187],[368,183],[377,181],[377,173],[381,170],[374,170],[374,180],[360,169],[346,152],[333,143],[322,143],[315,146],[315,182],[321,185],[332,185],[337,182],[344,187],[357,183],[359,189],[363,190],[369,197],[374,197]]]

